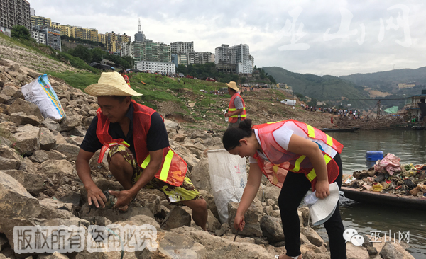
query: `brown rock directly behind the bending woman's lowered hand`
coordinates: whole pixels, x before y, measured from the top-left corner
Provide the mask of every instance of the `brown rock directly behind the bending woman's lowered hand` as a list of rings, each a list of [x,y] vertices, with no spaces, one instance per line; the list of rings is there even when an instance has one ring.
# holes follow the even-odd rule
[[[235,234],[236,229],[234,229],[234,218],[236,215],[236,209],[238,209],[239,203],[229,202],[228,203],[228,224],[231,226],[232,232]],[[262,236],[261,230],[261,216],[263,214],[263,208],[261,202],[255,198],[253,203],[251,203],[246,214],[244,214],[244,220],[246,221],[246,226],[244,226],[243,231],[239,231],[241,236]]]

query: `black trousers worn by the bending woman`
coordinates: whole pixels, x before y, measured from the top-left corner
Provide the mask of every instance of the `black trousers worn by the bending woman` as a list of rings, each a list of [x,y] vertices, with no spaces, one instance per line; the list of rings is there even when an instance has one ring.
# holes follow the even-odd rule
[[[335,180],[339,188],[342,185],[342,160],[339,154],[334,156],[334,161],[339,165],[339,176]],[[297,215],[302,198],[310,190],[311,184],[303,173],[293,173],[288,171],[283,184],[283,188],[278,198],[280,206],[281,221],[285,236],[285,249],[288,256],[300,255],[300,222]],[[329,236],[329,246],[331,259],[346,259],[346,241],[343,238],[344,226],[339,212],[339,204],[332,217],[324,223]]]

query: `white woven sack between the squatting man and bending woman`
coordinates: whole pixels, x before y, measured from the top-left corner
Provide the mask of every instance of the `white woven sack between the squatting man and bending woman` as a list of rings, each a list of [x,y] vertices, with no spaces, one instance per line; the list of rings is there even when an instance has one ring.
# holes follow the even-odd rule
[[[225,149],[207,151],[212,195],[222,223],[228,222],[228,203],[240,202],[247,184],[246,158]]]

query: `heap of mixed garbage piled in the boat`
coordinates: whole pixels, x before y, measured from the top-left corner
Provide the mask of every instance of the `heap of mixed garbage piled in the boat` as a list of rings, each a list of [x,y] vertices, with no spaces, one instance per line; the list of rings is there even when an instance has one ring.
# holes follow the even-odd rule
[[[426,198],[426,165],[400,164],[400,158],[388,153],[368,170],[355,171],[343,180],[342,185]]]

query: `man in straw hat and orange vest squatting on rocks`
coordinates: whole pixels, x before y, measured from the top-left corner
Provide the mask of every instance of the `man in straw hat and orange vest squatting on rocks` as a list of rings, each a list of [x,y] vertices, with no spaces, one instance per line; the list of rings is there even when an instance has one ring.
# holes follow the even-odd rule
[[[87,130],[77,156],[77,175],[87,190],[87,202],[105,207],[107,198],[92,180],[89,161],[101,149],[105,150],[109,171],[123,186],[122,191],[109,191],[117,197],[115,208],[129,209],[130,202],[141,188],[157,188],[168,202],[181,202],[192,209],[192,219],[206,230],[207,203],[185,176],[187,165],[169,146],[163,117],[155,110],[131,100],[141,96],[127,86],[117,72],[102,73],[98,84],[84,89],[97,96],[97,117]]]

